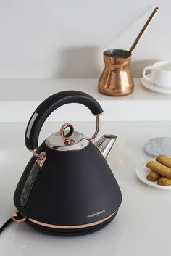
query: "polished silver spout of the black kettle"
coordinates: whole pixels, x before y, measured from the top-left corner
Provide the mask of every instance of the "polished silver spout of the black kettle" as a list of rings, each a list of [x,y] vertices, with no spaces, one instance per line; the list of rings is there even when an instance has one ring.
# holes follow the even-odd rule
[[[107,158],[117,136],[112,134],[104,134],[98,141],[95,142],[96,147],[99,149],[104,158]]]

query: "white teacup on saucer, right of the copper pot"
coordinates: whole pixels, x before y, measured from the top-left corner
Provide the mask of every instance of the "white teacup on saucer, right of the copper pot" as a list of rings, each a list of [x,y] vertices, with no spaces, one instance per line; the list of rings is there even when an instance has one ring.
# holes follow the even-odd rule
[[[146,75],[146,70],[151,70],[151,75]],[[171,87],[171,62],[157,62],[144,67],[143,78],[156,86]]]

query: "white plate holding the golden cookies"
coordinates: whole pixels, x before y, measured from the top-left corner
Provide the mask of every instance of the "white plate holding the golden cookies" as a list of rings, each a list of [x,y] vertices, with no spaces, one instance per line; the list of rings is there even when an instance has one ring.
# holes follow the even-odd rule
[[[155,160],[150,159],[150,160]],[[171,189],[171,185],[170,186],[160,186],[157,185],[157,181],[148,181],[146,176],[149,174],[150,169],[146,167],[146,163],[149,162],[150,160],[141,163],[141,165],[138,165],[138,167],[136,168],[136,175],[139,178],[140,181],[142,181],[143,183],[146,183],[146,185],[149,186],[154,186],[154,188],[157,189]]]

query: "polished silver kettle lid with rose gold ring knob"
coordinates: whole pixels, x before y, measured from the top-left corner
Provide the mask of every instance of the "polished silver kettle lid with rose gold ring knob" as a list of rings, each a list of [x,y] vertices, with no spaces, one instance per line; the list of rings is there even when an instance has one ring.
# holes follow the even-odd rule
[[[68,129],[69,128],[69,129]],[[51,134],[45,144],[50,149],[59,151],[80,150],[88,146],[90,140],[78,131],[74,131],[70,123],[65,123],[60,128],[60,131]]]

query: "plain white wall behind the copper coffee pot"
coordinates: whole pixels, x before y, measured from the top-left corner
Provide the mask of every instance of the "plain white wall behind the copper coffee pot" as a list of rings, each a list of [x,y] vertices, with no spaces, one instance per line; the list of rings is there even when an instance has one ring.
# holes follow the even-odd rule
[[[0,0],[0,78],[96,78],[105,49],[133,51],[132,72],[171,60],[170,0]]]

